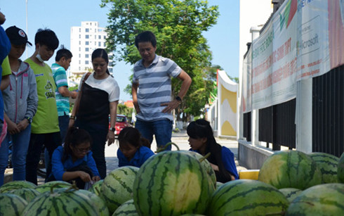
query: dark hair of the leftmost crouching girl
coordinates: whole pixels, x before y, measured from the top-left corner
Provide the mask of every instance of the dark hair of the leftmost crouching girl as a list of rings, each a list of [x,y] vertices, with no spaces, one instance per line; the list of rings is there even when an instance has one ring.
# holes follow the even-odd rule
[[[65,139],[65,145],[63,146],[63,157],[62,162],[67,160],[69,155],[73,155],[72,147],[79,146],[79,144],[83,144],[85,142],[89,142],[92,146],[92,137],[86,130],[79,129],[78,127],[70,127],[67,132],[67,136]]]

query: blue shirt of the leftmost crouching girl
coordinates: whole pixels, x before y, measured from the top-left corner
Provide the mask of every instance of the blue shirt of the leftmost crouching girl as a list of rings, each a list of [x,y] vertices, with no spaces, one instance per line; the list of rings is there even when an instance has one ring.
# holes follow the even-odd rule
[[[92,157],[92,151],[88,152],[84,158],[80,158],[73,162],[72,156],[69,155],[67,160],[62,163],[62,156],[63,156],[63,147],[58,146],[58,148],[55,149],[53,153],[53,157],[51,158],[51,165],[52,165],[52,171],[54,177],[58,181],[62,181],[62,175],[66,172],[66,170],[77,167],[78,165],[81,165],[84,161],[90,167],[92,170],[93,176],[100,176],[97,166],[95,165],[95,161]]]

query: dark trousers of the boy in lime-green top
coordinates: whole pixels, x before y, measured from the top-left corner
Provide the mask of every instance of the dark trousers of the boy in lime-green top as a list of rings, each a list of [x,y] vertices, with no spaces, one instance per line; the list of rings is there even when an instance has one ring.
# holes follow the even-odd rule
[[[43,146],[46,147],[49,153],[49,158],[53,155],[55,148],[61,145],[60,132],[48,134],[31,134],[29,141],[29,148],[26,156],[26,180],[37,184],[37,167],[41,158]],[[51,160],[46,165],[46,180],[51,174]]]

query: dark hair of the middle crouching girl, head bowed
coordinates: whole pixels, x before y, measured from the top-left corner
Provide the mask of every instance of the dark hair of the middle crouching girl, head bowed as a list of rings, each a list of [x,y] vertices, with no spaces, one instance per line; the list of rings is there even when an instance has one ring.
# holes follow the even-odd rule
[[[124,127],[118,135],[119,144],[131,144],[132,146],[146,146],[150,148],[150,141],[143,138],[135,127]]]

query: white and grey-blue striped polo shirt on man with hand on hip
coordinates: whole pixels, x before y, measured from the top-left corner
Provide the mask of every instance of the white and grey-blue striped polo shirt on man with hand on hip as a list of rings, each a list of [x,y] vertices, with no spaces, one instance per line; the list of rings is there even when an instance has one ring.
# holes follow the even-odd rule
[[[135,63],[133,84],[138,84],[139,120],[173,120],[172,113],[162,113],[171,101],[171,77],[178,77],[182,69],[171,59],[155,55],[154,61],[145,68],[142,59]]]

